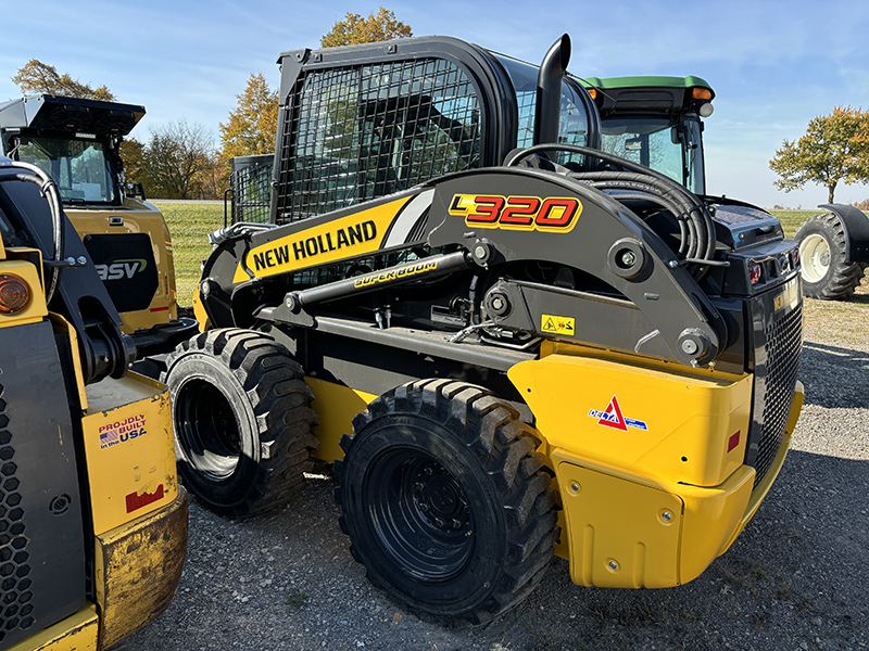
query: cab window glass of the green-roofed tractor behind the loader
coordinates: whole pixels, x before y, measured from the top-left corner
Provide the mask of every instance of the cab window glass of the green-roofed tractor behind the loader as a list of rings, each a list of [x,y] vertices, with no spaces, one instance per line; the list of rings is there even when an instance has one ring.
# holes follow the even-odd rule
[[[602,149],[645,165],[703,193],[703,149],[697,120],[655,116],[608,117],[603,120]]]

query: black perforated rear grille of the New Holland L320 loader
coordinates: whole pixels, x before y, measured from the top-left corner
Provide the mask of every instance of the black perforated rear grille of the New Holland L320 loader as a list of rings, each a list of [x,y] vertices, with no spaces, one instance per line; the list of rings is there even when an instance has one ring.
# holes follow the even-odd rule
[[[765,330],[767,370],[764,378],[764,429],[755,460],[755,486],[766,476],[781,447],[791,413],[799,350],[803,341],[803,306]]]

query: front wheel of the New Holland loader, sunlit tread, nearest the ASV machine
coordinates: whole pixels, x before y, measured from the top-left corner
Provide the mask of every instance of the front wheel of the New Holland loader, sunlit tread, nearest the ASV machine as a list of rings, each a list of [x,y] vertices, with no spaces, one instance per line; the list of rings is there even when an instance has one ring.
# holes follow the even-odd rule
[[[251,330],[211,330],[180,344],[166,368],[187,489],[222,515],[285,503],[318,445],[314,394],[287,348]]]

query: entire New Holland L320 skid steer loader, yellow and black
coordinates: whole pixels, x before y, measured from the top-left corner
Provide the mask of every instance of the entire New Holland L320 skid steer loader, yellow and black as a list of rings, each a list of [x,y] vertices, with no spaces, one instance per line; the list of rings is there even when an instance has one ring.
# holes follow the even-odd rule
[[[554,554],[668,587],[728,549],[802,405],[795,244],[601,152],[568,56],[281,55],[270,224],[212,235],[167,360],[192,493],[238,515],[335,461],[369,578],[476,622]]]

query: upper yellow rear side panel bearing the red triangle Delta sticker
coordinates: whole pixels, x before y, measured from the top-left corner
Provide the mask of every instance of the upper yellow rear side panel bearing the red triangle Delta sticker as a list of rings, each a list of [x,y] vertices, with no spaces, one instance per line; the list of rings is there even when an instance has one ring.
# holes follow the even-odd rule
[[[556,353],[508,376],[550,449],[643,477],[717,486],[745,456],[752,375],[658,367]]]

